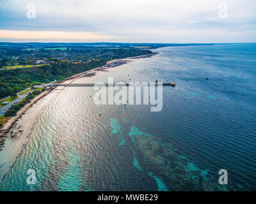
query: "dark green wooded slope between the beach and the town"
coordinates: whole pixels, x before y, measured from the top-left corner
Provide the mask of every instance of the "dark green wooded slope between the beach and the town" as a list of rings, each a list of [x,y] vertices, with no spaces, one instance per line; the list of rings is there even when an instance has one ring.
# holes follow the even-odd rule
[[[31,85],[50,83],[53,80],[76,75],[97,66],[102,66],[106,61],[92,61],[86,64],[52,64],[44,68],[15,69],[0,71],[0,98],[10,96],[11,92],[20,92]]]

